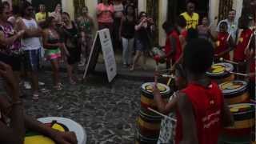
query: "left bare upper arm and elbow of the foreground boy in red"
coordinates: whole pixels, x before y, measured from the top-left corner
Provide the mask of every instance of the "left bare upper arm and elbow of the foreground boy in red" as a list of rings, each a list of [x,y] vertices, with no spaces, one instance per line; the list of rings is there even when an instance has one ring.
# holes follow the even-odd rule
[[[178,111],[182,116],[183,139],[180,144],[198,144],[193,106],[186,94],[180,94],[178,98]]]

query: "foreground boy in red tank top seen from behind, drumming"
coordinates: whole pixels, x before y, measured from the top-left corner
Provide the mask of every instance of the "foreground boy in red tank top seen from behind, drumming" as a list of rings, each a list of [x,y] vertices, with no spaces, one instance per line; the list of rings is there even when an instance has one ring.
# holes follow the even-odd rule
[[[216,144],[222,127],[231,126],[233,118],[218,84],[206,76],[214,59],[214,48],[206,40],[195,39],[186,45],[183,54],[188,86],[168,103],[154,86],[154,97],[162,112],[176,110],[175,143]]]

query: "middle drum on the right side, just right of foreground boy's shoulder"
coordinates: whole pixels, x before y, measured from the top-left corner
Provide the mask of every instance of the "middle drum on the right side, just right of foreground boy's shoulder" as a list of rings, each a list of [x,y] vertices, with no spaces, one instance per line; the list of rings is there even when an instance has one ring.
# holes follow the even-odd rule
[[[248,83],[244,81],[224,82],[219,85],[228,104],[250,102]]]

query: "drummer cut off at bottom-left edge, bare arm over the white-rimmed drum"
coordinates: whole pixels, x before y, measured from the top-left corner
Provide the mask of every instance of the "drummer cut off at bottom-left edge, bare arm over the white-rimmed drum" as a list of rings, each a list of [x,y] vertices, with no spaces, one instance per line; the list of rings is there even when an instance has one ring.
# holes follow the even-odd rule
[[[24,114],[13,71],[3,62],[0,62],[0,78],[6,81],[8,99],[11,100],[8,102],[7,98],[0,96],[0,143],[23,144],[26,129],[46,135],[58,144],[78,143],[74,132],[53,130]],[[9,124],[5,120],[6,117],[10,118]]]

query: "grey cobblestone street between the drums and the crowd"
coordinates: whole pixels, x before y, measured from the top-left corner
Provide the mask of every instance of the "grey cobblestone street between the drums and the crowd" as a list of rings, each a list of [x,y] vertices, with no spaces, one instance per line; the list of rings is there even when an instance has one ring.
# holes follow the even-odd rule
[[[56,91],[51,88],[49,72],[39,78],[49,92],[42,93],[38,102],[32,102],[30,96],[24,98],[27,114],[73,119],[85,128],[89,144],[134,143],[142,82],[115,79],[110,85],[106,78],[92,77],[90,82],[70,86],[62,73],[64,89]]]

